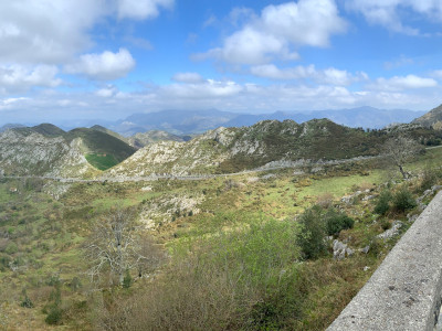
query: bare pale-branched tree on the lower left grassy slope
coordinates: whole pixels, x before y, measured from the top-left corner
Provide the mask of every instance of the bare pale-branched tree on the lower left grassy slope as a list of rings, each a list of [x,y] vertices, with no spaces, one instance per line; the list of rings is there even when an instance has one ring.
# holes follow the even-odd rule
[[[107,270],[110,276],[116,275],[119,285],[123,285],[126,270],[136,268],[139,274],[145,270],[145,265],[154,259],[157,250],[146,249],[140,232],[134,212],[122,206],[96,223],[84,244],[85,256],[91,264],[87,274],[93,281]]]

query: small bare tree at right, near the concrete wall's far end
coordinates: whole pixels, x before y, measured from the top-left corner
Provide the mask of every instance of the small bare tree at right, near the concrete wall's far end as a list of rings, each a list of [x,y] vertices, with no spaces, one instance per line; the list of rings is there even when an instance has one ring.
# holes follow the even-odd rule
[[[385,160],[389,166],[397,167],[403,179],[410,177],[410,173],[403,168],[406,163],[410,162],[422,151],[423,147],[421,145],[406,136],[390,138],[382,147]]]

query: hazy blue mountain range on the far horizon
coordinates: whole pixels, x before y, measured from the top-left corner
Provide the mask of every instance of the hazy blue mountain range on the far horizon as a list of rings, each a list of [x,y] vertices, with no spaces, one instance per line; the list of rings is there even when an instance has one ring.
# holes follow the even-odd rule
[[[315,111],[275,111],[272,114],[238,114],[217,109],[206,110],[162,110],[155,113],[133,114],[124,119],[109,120],[76,120],[66,124],[55,122],[59,127],[70,130],[75,127],[105,127],[125,137],[150,130],[161,130],[176,136],[202,134],[223,127],[252,126],[261,120],[292,119],[298,124],[311,119],[327,118],[336,124],[351,128],[380,129],[392,124],[410,122],[424,115],[425,111],[412,111],[406,109],[378,109],[373,107],[359,107],[340,110]],[[8,125],[19,126],[19,125]],[[0,128],[0,132],[6,128]],[[183,138],[185,140],[187,138]]]

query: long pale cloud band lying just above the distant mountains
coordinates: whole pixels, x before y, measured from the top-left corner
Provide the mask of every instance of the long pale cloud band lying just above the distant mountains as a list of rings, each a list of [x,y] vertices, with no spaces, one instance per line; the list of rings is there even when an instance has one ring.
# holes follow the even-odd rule
[[[112,89],[105,86],[102,89]],[[262,113],[277,110],[315,110],[372,106],[378,108],[432,109],[440,104],[441,86],[424,89],[385,90],[379,88],[346,88],[343,86],[307,84],[240,84],[232,81],[204,79],[198,84],[149,85],[143,92],[115,90],[110,97],[97,92],[38,90],[32,98],[13,100],[8,105],[0,98],[0,121],[65,122],[78,118],[116,120],[139,109],[209,109]],[[102,90],[101,94],[109,95]],[[8,100],[8,98],[7,98]],[[8,102],[7,102],[8,103]],[[32,109],[30,113],[29,109]]]

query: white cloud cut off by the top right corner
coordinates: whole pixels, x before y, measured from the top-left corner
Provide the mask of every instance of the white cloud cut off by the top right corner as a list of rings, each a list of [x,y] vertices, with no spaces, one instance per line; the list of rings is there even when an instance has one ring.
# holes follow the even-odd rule
[[[346,8],[360,12],[371,24],[409,35],[420,34],[419,29],[404,25],[400,12],[411,10],[424,18],[442,19],[440,0],[346,0]]]

